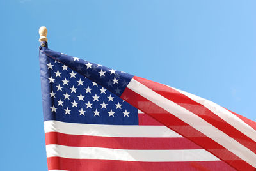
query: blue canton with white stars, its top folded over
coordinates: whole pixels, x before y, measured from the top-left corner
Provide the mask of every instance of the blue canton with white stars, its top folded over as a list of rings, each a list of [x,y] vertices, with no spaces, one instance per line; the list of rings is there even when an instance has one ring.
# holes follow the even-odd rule
[[[119,98],[132,75],[45,47],[40,73],[44,121],[138,124],[138,109]]]

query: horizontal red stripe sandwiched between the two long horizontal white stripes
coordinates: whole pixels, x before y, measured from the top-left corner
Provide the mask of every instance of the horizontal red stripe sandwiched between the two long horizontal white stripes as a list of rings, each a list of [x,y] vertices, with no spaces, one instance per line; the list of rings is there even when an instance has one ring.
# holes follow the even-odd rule
[[[58,132],[45,133],[45,144],[111,149],[202,149],[187,138],[98,137]]]

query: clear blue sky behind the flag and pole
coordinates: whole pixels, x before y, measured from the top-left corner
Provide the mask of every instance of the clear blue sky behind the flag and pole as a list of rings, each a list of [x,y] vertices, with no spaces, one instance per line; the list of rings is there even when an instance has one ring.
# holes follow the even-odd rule
[[[256,1],[0,0],[0,170],[47,170],[38,29],[49,48],[256,121]]]

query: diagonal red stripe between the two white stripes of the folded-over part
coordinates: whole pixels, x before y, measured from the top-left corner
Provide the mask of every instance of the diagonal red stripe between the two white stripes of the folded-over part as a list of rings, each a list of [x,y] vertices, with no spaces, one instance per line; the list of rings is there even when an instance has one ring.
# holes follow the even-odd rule
[[[152,82],[150,80],[146,80],[140,77],[134,77],[134,80],[137,80],[138,82],[140,82],[143,85],[146,85],[148,88],[152,89],[161,96],[164,96],[168,100],[171,100],[174,103],[180,105],[181,107],[186,108],[190,112],[193,112],[193,114],[198,115],[198,117],[201,117],[208,123],[212,124],[212,126],[223,131],[223,133],[226,133],[228,136],[234,138],[237,142],[243,144],[245,147],[247,147],[256,154],[255,141],[241,133],[239,130],[234,128],[232,125],[228,124],[220,117],[218,117],[218,115],[211,112],[211,110],[204,107],[204,105],[201,105],[200,103],[191,100],[184,94],[166,85],[159,84],[157,82]]]

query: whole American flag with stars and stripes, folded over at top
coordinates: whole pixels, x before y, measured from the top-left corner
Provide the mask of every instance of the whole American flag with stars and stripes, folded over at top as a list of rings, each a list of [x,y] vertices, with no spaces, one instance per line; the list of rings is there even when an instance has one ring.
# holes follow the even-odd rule
[[[44,45],[49,170],[255,170],[254,121]]]

